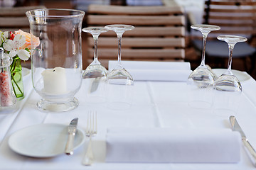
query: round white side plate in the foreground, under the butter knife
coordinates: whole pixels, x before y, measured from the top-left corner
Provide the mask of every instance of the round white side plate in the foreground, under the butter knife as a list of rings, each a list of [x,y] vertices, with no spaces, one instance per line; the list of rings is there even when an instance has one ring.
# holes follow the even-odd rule
[[[31,125],[9,137],[9,147],[28,157],[55,157],[65,152],[68,141],[68,125],[38,124]],[[74,140],[74,149],[85,141],[85,134],[78,128]]]

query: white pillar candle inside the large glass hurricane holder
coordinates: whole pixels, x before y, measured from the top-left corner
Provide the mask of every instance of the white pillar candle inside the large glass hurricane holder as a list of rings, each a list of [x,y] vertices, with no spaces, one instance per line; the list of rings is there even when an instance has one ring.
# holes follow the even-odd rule
[[[46,69],[42,72],[43,91],[48,94],[65,94],[67,93],[67,81],[65,69],[55,67]]]

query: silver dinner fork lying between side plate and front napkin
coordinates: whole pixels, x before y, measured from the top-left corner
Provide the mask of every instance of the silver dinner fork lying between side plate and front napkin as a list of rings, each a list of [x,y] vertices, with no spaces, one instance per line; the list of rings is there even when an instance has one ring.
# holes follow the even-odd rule
[[[90,111],[87,114],[87,126],[85,133],[88,137],[90,137],[87,151],[85,157],[82,159],[82,164],[84,165],[91,165],[93,162],[93,153],[92,153],[92,135],[97,134],[97,112]]]

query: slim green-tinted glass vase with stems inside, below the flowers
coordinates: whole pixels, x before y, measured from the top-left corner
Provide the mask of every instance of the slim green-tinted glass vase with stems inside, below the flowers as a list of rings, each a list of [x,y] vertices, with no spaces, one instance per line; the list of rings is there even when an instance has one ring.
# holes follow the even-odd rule
[[[13,62],[10,66],[11,71],[11,84],[14,89],[14,94],[18,101],[24,98],[23,79],[22,79],[22,67],[21,59],[18,56],[13,58]]]

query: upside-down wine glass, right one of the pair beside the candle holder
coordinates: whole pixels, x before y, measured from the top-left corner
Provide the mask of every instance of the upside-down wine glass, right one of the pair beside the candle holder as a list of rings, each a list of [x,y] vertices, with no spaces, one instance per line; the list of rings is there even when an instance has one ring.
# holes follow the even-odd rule
[[[108,95],[107,102],[110,108],[123,110],[129,108],[132,103],[132,85],[134,80],[122,66],[121,63],[121,40],[122,35],[127,30],[133,30],[134,26],[124,24],[114,24],[105,26],[117,34],[118,39],[118,60],[117,64],[107,76]]]

